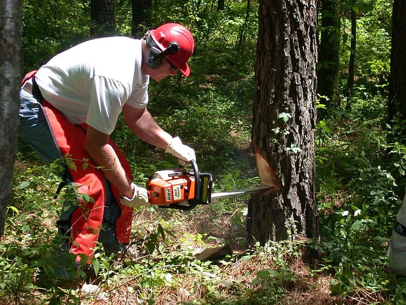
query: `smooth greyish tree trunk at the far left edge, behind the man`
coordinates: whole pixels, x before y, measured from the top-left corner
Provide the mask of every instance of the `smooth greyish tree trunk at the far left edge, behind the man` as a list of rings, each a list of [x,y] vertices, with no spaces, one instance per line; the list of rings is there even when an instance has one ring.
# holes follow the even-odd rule
[[[4,0],[0,7],[0,239],[11,193],[19,127],[22,70],[22,0]]]

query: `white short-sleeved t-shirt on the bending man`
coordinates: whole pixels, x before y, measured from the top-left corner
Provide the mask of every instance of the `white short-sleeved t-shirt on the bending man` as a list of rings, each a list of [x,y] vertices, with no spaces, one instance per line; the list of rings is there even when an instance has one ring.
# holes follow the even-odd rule
[[[35,76],[44,99],[72,123],[110,135],[124,104],[143,109],[148,103],[141,44],[128,37],[97,38],[57,54]]]

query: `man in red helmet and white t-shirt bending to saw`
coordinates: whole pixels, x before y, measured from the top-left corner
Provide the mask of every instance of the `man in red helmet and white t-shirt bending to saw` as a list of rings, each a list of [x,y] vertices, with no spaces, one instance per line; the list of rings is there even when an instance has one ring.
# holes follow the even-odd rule
[[[72,238],[69,252],[77,264],[91,262],[97,242],[107,251],[124,251],[132,209],[148,203],[147,190],[133,183],[126,158],[110,139],[121,111],[144,141],[180,162],[196,159],[194,150],[163,131],[147,110],[149,79],[159,82],[177,70],[188,77],[193,48],[186,27],[166,23],[140,40],[83,42],[23,79],[21,137],[47,164],[70,158],[75,168],[65,168],[61,176],[92,198],[79,196],[79,204],[64,207],[57,222],[59,233]],[[86,166],[83,160],[89,160]]]

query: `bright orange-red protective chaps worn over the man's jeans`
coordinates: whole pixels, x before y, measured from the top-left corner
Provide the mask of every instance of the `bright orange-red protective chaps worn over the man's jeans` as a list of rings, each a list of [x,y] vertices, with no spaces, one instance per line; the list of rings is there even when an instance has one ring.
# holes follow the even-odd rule
[[[32,78],[34,74],[35,71],[27,74],[23,83]],[[100,230],[105,231],[106,229],[102,228],[103,224],[106,223],[106,221],[104,222],[106,210],[110,208],[110,205],[115,205],[116,217],[109,226],[111,227],[110,231],[113,230],[111,234],[116,239],[116,243],[118,242],[117,245],[122,246],[129,243],[133,209],[120,203],[118,190],[109,184],[103,174],[103,169],[97,169],[97,166],[86,153],[84,146],[87,125],[72,124],[59,110],[53,108],[45,100],[42,100],[42,110],[53,136],[54,145],[59,147],[61,156],[70,160],[69,173],[79,195],[78,207],[69,217],[68,232],[71,233],[72,237],[70,252],[77,255],[77,262],[80,262],[85,256],[86,262],[90,263],[96,243],[99,241]],[[131,179],[131,170],[127,159],[112,140],[109,141],[109,144],[115,150],[118,161]],[[72,166],[72,163],[75,166]],[[112,194],[107,196],[107,192],[112,192]],[[107,202],[107,197],[110,198],[110,202]]]

